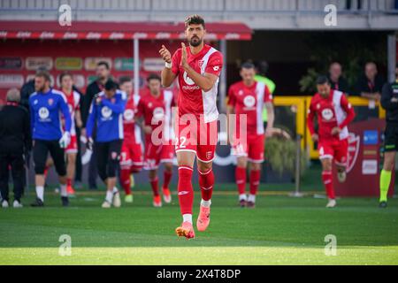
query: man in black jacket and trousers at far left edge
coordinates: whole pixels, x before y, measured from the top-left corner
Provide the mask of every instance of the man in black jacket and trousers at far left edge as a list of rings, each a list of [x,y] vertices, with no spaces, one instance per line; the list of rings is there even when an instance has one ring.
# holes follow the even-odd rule
[[[19,90],[11,88],[7,103],[0,109],[0,190],[2,207],[9,206],[8,177],[11,167],[14,183],[14,208],[22,207],[24,191],[24,155],[32,147],[29,114],[19,106]]]

